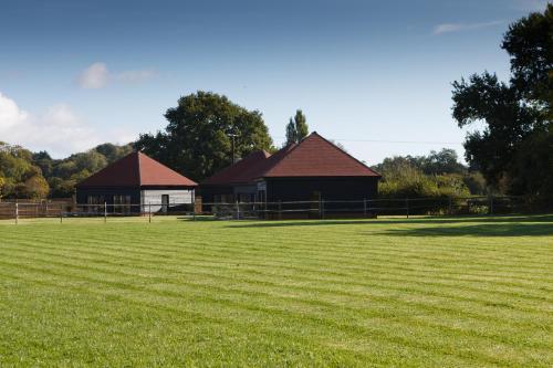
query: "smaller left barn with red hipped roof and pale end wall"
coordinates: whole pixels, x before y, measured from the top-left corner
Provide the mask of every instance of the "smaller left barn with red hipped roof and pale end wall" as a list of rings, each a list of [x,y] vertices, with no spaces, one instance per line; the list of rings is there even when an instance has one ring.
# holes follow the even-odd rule
[[[143,153],[132,153],[76,185],[76,203],[88,211],[167,212],[191,204],[197,183]],[[137,206],[142,204],[142,206]]]

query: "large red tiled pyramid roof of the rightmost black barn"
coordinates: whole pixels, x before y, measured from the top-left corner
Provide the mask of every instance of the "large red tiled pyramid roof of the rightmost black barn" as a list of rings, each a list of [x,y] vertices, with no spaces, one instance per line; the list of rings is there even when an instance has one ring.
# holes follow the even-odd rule
[[[300,141],[260,175],[274,177],[379,177],[316,132]]]

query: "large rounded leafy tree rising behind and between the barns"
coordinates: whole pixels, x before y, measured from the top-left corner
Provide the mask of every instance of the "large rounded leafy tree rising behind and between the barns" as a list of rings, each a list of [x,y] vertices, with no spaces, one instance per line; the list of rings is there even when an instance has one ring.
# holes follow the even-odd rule
[[[219,94],[198,91],[180,97],[165,117],[169,122],[165,130],[140,135],[135,148],[196,181],[231,164],[232,154],[243,157],[272,149],[261,113]]]

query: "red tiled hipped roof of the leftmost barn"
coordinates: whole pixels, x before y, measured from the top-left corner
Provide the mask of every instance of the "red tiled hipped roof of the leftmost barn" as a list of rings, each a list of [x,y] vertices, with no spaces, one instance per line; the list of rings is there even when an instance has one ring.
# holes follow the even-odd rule
[[[143,153],[132,153],[81,181],[77,187],[195,187],[196,182]]]

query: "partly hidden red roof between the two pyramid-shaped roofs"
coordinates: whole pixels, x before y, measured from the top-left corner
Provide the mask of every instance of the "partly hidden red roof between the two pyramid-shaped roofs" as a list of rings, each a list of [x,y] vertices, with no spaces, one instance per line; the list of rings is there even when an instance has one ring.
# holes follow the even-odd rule
[[[257,150],[246,156],[234,165],[228,166],[201,182],[205,186],[218,186],[230,183],[249,183],[259,177],[259,172],[265,167],[265,160],[270,157],[264,150]]]

